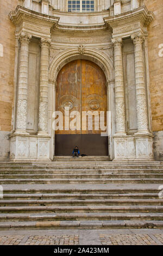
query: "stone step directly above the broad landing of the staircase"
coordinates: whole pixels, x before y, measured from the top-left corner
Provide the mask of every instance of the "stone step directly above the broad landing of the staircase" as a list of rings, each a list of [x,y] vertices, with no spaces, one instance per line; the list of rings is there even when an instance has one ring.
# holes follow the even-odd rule
[[[101,184],[108,184],[108,183],[152,183],[152,184],[163,184],[163,179],[154,179],[154,178],[128,178],[128,179],[100,179]],[[60,183],[71,183],[71,184],[98,184],[99,179],[0,179],[0,184],[60,184]]]

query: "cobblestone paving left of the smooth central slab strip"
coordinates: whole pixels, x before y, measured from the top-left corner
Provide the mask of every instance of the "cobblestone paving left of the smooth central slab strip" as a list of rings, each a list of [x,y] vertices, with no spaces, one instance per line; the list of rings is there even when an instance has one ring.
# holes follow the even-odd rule
[[[0,236],[0,245],[78,245],[78,235],[59,236]]]

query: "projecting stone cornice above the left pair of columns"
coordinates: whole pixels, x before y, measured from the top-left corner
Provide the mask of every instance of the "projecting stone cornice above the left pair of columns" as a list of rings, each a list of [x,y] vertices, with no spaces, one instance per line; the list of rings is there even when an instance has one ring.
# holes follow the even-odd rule
[[[59,17],[37,13],[36,11],[29,10],[20,5],[17,5],[15,11],[10,11],[9,18],[15,26],[20,26],[23,21],[28,21],[46,27],[57,25],[60,19]]]

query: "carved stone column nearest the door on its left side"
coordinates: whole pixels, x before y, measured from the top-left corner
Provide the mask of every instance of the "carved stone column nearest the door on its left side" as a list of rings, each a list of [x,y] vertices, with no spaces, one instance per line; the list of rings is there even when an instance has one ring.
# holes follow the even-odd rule
[[[50,40],[41,39],[40,99],[38,135],[48,134],[48,69]]]

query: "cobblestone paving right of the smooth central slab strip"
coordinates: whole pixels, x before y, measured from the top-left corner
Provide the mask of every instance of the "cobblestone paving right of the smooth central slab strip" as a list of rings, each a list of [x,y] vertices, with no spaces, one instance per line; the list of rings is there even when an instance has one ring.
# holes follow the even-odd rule
[[[100,235],[102,245],[158,245],[163,243],[162,234],[120,234],[120,235]]]

